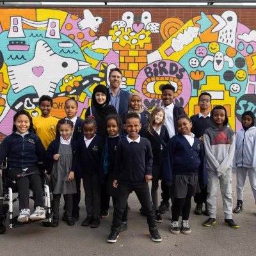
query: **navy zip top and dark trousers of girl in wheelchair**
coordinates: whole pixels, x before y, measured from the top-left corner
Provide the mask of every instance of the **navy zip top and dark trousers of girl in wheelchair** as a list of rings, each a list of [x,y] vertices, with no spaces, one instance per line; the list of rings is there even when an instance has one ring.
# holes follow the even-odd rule
[[[6,157],[6,175],[16,181],[20,209],[29,209],[29,185],[35,198],[35,207],[44,207],[42,180],[37,167],[38,162],[45,161],[45,148],[40,138],[31,130],[24,134],[13,132],[0,143],[0,163]],[[35,173],[17,179],[17,175],[23,172]]]

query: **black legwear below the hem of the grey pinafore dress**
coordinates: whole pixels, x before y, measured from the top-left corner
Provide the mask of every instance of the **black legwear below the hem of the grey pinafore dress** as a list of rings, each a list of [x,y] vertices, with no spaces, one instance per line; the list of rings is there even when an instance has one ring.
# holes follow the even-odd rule
[[[72,216],[72,209],[73,209],[73,198],[72,194],[63,195],[65,200],[65,209],[67,217]],[[60,198],[61,194],[52,194],[52,212],[53,218],[59,218],[59,209],[60,209]]]

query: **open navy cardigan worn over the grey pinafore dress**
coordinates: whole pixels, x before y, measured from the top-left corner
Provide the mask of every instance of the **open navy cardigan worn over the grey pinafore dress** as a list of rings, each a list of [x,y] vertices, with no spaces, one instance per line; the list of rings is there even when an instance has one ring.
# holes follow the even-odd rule
[[[72,148],[72,172],[76,172],[76,164],[77,164],[77,142],[75,140],[71,139],[71,148]],[[56,138],[54,141],[52,141],[49,145],[49,147],[46,150],[46,159],[47,163],[45,166],[47,166],[47,173],[50,174],[52,172],[52,167],[54,164],[53,156],[58,154],[60,148],[60,137]]]

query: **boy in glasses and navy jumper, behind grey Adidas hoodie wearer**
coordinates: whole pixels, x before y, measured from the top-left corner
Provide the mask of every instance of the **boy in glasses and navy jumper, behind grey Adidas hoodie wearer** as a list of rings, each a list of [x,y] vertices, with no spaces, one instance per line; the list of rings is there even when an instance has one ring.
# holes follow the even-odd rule
[[[211,108],[211,94],[208,92],[203,92],[198,97],[198,106],[200,112],[197,115],[190,117],[192,122],[191,132],[195,134],[195,137],[198,138],[204,147],[204,131],[211,126],[210,111]],[[200,193],[196,193],[194,196],[194,201],[196,203],[195,214],[201,215],[203,213],[203,204],[205,204],[204,214],[209,216],[207,211],[207,186],[201,188]]]

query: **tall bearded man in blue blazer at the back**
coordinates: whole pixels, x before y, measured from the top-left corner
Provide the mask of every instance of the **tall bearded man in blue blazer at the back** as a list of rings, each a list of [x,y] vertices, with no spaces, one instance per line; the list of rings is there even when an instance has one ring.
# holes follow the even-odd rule
[[[119,68],[111,68],[108,80],[108,90],[111,97],[109,104],[115,107],[118,115],[125,116],[129,109],[129,92],[125,92],[119,88],[122,83],[122,71]]]

